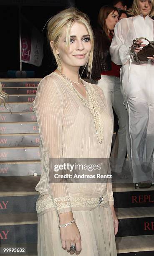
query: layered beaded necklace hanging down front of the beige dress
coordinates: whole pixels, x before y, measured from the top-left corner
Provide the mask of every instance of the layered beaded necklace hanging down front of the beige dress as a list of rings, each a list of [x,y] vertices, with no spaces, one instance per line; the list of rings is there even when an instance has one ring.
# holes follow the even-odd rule
[[[88,110],[90,111],[92,117],[93,117],[93,121],[95,124],[95,129],[96,129],[96,136],[98,138],[98,142],[101,144],[103,141],[103,136],[104,136],[104,132],[103,132],[103,122],[101,120],[101,116],[99,113],[99,105],[97,102],[97,96],[96,96],[96,92],[94,90],[94,88],[92,86],[87,87],[87,85],[83,82],[84,80],[81,79],[80,75],[78,75],[80,82],[74,82],[71,79],[69,79],[68,77],[66,77],[62,72],[61,69],[59,67],[57,67],[59,73],[61,74],[61,76],[67,80],[68,82],[66,82],[67,86],[73,90],[73,92],[75,92],[75,94],[77,95],[77,97],[83,102],[83,104],[88,108]],[[86,94],[89,97],[89,104],[86,102],[86,100],[83,99],[83,97],[81,97],[78,93],[78,91],[76,90],[76,88],[73,86],[74,84],[83,84],[86,90]]]

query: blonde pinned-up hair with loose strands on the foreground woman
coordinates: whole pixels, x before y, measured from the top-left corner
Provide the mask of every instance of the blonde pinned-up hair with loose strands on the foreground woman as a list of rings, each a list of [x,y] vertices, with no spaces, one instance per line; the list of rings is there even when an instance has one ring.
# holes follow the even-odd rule
[[[48,40],[53,41],[52,51],[55,56],[56,63],[58,67],[61,69],[61,59],[60,56],[56,53],[56,49],[58,48],[59,38],[61,37],[63,28],[66,26],[66,51],[70,47],[70,32],[71,27],[75,23],[83,24],[90,36],[91,39],[91,52],[85,67],[87,66],[88,75],[91,75],[92,63],[93,63],[93,48],[94,48],[94,38],[93,38],[93,30],[90,25],[90,20],[85,13],[81,13],[76,8],[68,8],[62,10],[60,13],[53,16],[47,26],[48,31]]]

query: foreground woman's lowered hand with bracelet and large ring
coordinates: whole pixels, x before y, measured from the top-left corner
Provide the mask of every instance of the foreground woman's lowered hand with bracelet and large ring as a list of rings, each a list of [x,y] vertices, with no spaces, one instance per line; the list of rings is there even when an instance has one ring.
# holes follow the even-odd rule
[[[73,220],[72,212],[59,214],[60,225],[66,224],[71,220]],[[76,255],[79,255],[81,252],[81,236],[76,223],[74,222],[67,227],[61,227],[60,236],[63,249],[67,250],[67,252],[72,255],[75,253],[75,251],[70,251],[70,247],[71,245],[76,245]]]

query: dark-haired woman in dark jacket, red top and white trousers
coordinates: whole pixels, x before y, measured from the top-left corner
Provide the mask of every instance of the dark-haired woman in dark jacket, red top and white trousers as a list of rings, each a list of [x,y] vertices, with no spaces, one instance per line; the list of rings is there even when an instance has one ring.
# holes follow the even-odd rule
[[[119,21],[119,10],[114,6],[101,7],[98,14],[98,28],[94,30],[95,51],[93,58],[92,79],[97,81],[106,97],[106,104],[112,118],[114,129],[114,113],[118,116],[119,131],[116,134],[111,151],[111,171],[120,178],[127,178],[122,173],[126,156],[126,118],[120,90],[120,66],[111,61],[109,48],[114,33],[114,27]]]

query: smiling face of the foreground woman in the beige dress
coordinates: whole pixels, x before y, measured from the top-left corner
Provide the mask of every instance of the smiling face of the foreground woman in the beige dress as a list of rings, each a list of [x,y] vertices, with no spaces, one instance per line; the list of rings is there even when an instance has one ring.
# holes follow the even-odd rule
[[[91,52],[91,41],[86,27],[75,22],[71,27],[70,48],[66,51],[66,27],[63,28],[56,50],[61,59],[62,66],[81,67],[84,66]]]

